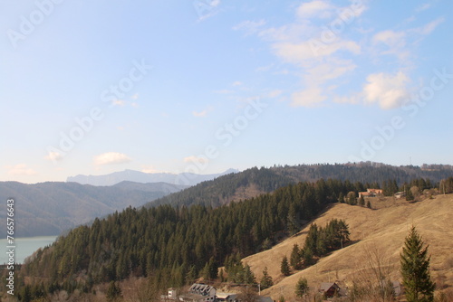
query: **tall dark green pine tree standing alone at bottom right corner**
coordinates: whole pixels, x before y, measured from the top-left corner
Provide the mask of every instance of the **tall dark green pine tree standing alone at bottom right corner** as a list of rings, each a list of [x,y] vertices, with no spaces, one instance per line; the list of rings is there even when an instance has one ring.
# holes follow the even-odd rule
[[[433,301],[435,283],[429,274],[428,246],[414,226],[406,237],[400,254],[401,275],[406,288],[406,298],[409,302]]]

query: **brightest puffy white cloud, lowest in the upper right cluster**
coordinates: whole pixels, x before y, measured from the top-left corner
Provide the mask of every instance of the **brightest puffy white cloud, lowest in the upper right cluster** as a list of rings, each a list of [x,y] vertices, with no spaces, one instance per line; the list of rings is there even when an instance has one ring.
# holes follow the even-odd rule
[[[406,87],[409,82],[410,79],[402,71],[394,75],[383,72],[370,74],[363,87],[363,100],[366,104],[378,103],[381,109],[397,108],[410,96]]]

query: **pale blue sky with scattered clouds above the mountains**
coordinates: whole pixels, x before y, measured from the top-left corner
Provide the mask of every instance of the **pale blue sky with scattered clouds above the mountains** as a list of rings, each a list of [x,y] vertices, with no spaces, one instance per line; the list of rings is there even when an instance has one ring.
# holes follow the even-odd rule
[[[453,165],[453,2],[0,2],[0,181]]]

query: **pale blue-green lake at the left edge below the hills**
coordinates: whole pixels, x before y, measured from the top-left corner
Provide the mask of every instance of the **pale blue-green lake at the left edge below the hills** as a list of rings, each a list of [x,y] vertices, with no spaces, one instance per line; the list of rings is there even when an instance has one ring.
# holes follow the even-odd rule
[[[14,238],[15,249],[14,249],[14,258],[16,263],[23,263],[25,258],[31,256],[34,251],[39,248],[43,248],[47,245],[52,244],[55,241],[57,236],[40,236],[40,237],[24,237],[24,238]],[[6,263],[8,261],[8,255],[6,255],[6,239],[0,239],[0,264]]]

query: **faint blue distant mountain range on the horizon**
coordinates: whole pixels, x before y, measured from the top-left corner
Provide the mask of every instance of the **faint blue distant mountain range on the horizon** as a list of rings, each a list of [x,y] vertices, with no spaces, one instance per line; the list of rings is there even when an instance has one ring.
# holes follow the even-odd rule
[[[134,170],[125,170],[121,172],[114,172],[109,175],[76,175],[67,178],[66,182],[79,183],[79,184],[92,184],[92,185],[113,185],[119,184],[123,181],[130,181],[135,183],[168,183],[168,184],[184,184],[195,185],[208,180],[213,180],[218,176],[228,175],[231,173],[239,172],[236,169],[228,169],[224,173],[212,175],[198,175],[193,173],[144,173]]]

